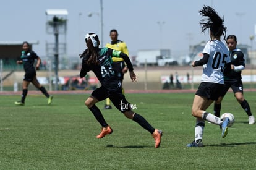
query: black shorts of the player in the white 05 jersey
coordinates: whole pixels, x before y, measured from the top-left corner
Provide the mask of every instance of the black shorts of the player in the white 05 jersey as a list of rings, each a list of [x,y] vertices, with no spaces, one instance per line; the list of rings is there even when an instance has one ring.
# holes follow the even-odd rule
[[[223,84],[202,82],[195,95],[203,96],[210,100],[217,100],[222,90]]]

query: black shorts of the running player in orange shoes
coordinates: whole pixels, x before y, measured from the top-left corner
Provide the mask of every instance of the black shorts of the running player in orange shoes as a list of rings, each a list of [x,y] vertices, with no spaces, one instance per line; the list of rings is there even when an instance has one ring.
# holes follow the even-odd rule
[[[129,111],[132,109],[132,104],[130,104],[126,97],[122,94],[122,87],[117,88],[114,91],[108,91],[105,87],[101,86],[96,88],[91,95],[93,98],[96,98],[98,101],[105,100],[109,98],[111,102],[116,106],[119,111],[124,113],[125,111]]]

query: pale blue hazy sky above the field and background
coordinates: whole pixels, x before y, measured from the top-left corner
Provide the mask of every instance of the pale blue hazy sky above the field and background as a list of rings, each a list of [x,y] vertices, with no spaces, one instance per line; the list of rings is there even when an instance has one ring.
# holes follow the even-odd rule
[[[239,43],[250,45],[254,35],[255,0],[103,0],[103,44],[109,30],[116,28],[119,39],[126,41],[130,54],[142,49],[171,49],[174,55],[184,55],[189,45],[209,39],[201,33],[198,10],[212,6],[224,16],[227,34],[237,35]],[[0,6],[0,41],[39,40],[33,49],[46,55],[45,43],[54,43],[54,35],[46,34],[46,21],[51,19],[46,9],[67,9],[67,54],[78,56],[83,51],[84,35],[100,34],[99,17],[90,12],[100,11],[100,0],[8,0]],[[79,15],[80,14],[80,15]],[[158,24],[158,22],[163,24]],[[161,25],[161,32],[160,32]],[[60,36],[63,41],[64,36]]]

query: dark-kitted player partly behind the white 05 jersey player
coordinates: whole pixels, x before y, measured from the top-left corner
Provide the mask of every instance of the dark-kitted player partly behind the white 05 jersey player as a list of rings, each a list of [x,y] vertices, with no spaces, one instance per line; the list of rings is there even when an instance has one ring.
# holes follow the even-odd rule
[[[224,88],[220,94],[218,100],[215,101],[214,104],[214,112],[215,116],[220,117],[221,111],[221,101],[223,100],[224,96],[228,92],[229,88],[231,87],[236,97],[238,103],[242,106],[244,111],[247,113],[249,124],[255,123],[255,118],[252,115],[250,110],[249,103],[244,98],[244,91],[242,85],[242,70],[245,69],[245,60],[244,54],[240,49],[236,47],[237,45],[237,38],[235,35],[229,35],[227,37],[227,44],[230,53],[231,65],[227,67],[231,67],[231,69],[224,70]]]

